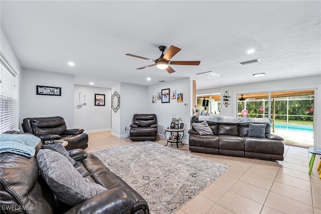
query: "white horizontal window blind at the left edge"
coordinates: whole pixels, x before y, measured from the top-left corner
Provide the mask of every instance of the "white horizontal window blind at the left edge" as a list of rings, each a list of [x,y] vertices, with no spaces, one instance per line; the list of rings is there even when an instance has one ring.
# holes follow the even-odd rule
[[[0,133],[18,129],[17,75],[1,56]]]

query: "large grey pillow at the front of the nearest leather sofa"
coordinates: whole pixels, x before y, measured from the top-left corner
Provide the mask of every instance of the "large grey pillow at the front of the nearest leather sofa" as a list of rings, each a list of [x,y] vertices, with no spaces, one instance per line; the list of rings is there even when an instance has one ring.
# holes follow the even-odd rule
[[[37,154],[41,176],[57,198],[69,205],[76,205],[107,189],[83,178],[62,154],[41,149]]]

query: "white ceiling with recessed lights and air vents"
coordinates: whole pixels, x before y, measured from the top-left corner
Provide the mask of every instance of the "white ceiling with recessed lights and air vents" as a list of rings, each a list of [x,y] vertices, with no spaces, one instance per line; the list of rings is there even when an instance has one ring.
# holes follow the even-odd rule
[[[4,1],[1,29],[22,67],[73,74],[75,84],[151,85],[184,77],[197,89],[321,73],[320,1]],[[182,50],[175,73],[150,67],[159,45]],[[247,54],[248,49],[255,49]],[[238,62],[259,58],[260,62]],[[75,62],[69,67],[68,61]],[[213,71],[208,79],[196,73]],[[263,77],[252,74],[265,72]],[[146,77],[151,80],[147,81]]]

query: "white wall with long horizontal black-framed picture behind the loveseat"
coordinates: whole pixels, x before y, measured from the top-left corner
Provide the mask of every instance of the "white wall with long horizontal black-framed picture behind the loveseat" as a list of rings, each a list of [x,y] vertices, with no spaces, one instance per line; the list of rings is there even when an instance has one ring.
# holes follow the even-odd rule
[[[67,129],[74,128],[74,76],[25,68],[22,73],[19,121],[60,116],[65,119]],[[61,87],[61,96],[37,95],[36,85]]]

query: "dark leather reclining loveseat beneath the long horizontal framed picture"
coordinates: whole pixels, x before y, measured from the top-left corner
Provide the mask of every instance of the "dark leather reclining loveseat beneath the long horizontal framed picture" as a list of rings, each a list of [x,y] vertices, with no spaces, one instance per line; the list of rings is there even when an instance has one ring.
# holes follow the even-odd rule
[[[68,141],[67,150],[86,149],[88,147],[88,135],[83,129],[67,129],[66,122],[62,117],[25,118],[22,123],[25,133],[31,133],[37,137],[43,137],[48,141]]]

